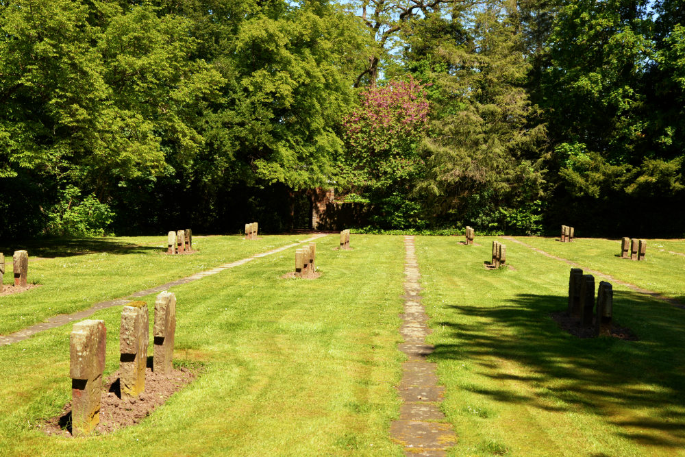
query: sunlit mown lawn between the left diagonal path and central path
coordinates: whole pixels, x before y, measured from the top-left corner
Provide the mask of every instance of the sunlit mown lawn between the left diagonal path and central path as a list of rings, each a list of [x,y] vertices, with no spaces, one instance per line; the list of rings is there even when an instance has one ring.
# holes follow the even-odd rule
[[[337,245],[335,235],[317,241],[317,280],[280,278],[293,248],[173,287],[175,358],[203,371],[142,423],[106,436],[37,427],[71,395],[71,326],[0,347],[0,454],[401,455],[388,428],[403,358],[402,238]],[[108,329],[106,376],[119,365],[121,308],[92,319]]]

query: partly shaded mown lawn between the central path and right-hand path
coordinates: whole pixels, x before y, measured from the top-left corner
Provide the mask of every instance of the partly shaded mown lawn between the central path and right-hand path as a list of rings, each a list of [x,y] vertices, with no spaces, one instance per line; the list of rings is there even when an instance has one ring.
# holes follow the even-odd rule
[[[483,268],[493,239],[506,243],[515,271]],[[614,286],[614,319],[640,341],[580,340],[549,317],[566,308],[569,265],[502,238],[458,240],[416,240],[431,359],[458,434],[452,455],[685,455],[685,310]],[[536,245],[581,262],[616,251],[590,240]],[[588,266],[605,271],[597,262]],[[656,268],[616,262],[645,279]],[[663,284],[681,274],[656,271]]]

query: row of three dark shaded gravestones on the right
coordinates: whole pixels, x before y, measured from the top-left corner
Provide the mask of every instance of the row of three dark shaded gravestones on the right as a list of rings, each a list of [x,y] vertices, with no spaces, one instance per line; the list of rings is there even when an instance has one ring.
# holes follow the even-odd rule
[[[571,269],[568,312],[571,316],[579,319],[582,327],[593,325],[594,309],[595,336],[610,335],[613,308],[614,291],[610,282],[599,282],[597,306],[595,307],[595,277],[584,275],[580,268]]]

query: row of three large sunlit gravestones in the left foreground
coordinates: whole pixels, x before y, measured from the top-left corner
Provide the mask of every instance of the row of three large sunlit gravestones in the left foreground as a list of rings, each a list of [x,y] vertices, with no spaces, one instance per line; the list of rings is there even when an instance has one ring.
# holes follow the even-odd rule
[[[170,375],[176,330],[176,296],[162,292],[155,300],[153,371]],[[71,378],[71,433],[90,434],[100,422],[102,373],[105,369],[105,321],[86,319],[74,324],[69,337]],[[121,312],[119,386],[121,398],[145,391],[149,344],[149,315],[145,301],[132,301]]]

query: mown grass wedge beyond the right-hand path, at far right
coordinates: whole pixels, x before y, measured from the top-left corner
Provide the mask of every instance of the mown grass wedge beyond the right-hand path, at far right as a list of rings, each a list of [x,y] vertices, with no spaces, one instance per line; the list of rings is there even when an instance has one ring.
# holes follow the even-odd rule
[[[560,243],[554,238],[537,236],[516,238],[549,254],[675,298],[685,304],[685,256],[669,253],[685,253],[685,240],[647,240],[645,260],[637,262],[619,257],[621,240],[576,238],[573,243]],[[669,249],[665,249],[664,245]]]

